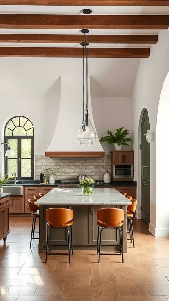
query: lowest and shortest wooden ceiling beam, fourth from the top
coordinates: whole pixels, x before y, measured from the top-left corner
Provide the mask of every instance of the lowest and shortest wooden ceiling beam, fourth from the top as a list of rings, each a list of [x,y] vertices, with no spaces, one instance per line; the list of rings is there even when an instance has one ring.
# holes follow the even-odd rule
[[[88,57],[149,57],[150,48],[88,48]],[[0,47],[0,57],[83,57],[83,48]]]

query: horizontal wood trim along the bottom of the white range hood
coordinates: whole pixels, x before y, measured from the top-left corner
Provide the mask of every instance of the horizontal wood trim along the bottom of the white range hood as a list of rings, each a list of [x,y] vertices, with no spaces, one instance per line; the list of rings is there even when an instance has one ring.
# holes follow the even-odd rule
[[[46,151],[46,157],[104,157],[104,151]]]

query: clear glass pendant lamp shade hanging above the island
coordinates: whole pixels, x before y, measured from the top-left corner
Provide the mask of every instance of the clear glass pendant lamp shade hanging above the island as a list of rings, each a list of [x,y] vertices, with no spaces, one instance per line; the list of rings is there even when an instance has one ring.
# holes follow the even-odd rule
[[[85,119],[78,130],[78,140],[81,145],[92,145],[96,139],[96,132],[91,124],[89,114],[85,115]]]

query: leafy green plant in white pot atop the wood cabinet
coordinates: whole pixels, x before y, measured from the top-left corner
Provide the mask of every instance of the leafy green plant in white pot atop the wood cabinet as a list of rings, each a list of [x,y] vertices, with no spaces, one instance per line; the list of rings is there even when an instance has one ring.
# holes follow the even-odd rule
[[[116,129],[116,133],[113,134],[112,131],[107,131],[108,135],[105,135],[104,137],[100,138],[100,142],[108,142],[109,144],[114,143],[115,151],[121,151],[122,145],[128,145],[128,141],[131,141],[130,137],[126,136],[128,135],[128,129],[123,130],[122,128]]]

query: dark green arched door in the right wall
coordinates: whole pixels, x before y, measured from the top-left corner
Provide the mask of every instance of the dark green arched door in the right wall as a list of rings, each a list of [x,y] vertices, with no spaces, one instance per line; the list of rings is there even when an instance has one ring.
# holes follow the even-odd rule
[[[150,222],[150,143],[146,141],[145,133],[150,129],[147,110],[143,114],[141,124],[141,218],[147,224]]]

